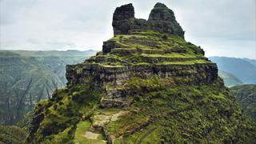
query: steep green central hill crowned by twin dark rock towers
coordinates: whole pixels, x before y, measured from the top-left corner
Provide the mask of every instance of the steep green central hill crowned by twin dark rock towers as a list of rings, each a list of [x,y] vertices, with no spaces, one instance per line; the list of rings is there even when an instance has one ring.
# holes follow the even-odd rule
[[[66,87],[38,102],[27,142],[255,142],[256,126],[218,67],[186,42],[166,5],[157,3],[148,20],[120,6],[112,26],[102,51],[66,66]]]

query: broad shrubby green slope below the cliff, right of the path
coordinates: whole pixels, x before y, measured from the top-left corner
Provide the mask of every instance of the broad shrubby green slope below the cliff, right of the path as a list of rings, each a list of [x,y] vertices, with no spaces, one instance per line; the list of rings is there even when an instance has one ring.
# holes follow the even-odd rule
[[[250,122],[243,130],[247,125],[239,122],[242,111],[221,82],[214,86],[170,86],[140,94],[135,100],[134,106],[158,124],[157,138],[166,142],[243,142],[246,133],[255,138]]]

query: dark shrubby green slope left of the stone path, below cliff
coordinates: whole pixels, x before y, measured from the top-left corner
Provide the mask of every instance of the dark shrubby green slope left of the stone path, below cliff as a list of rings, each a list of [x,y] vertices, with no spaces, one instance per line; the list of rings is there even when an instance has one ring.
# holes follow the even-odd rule
[[[90,86],[56,90],[53,98],[38,102],[31,124],[40,123],[40,127],[30,130],[30,138],[34,142],[70,142],[82,115],[87,118],[100,98],[98,90],[90,90]]]

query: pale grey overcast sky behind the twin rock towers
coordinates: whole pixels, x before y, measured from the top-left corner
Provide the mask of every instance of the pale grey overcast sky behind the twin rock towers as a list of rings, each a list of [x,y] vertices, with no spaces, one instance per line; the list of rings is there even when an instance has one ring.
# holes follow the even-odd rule
[[[0,0],[0,50],[102,50],[117,6],[148,18],[163,2],[206,56],[256,58],[255,0]]]

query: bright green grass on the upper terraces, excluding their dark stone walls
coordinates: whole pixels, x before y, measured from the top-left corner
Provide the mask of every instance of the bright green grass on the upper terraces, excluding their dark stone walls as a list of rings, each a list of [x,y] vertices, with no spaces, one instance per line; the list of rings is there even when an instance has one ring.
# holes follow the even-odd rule
[[[165,38],[163,38],[165,36]],[[133,43],[127,41],[132,40]],[[107,54],[98,54],[96,57],[91,58],[93,62],[88,62],[90,64],[99,64],[102,67],[123,67],[127,65],[144,65],[149,64],[143,62],[142,57],[148,58],[203,58],[202,49],[198,46],[194,46],[193,44],[186,42],[183,38],[179,38],[178,36],[171,36],[166,34],[161,34],[154,31],[134,31],[131,34],[127,35],[116,35],[114,38],[110,38],[110,42],[116,42],[118,45],[124,46],[122,48],[114,48],[110,53]],[[138,41],[138,43],[136,43]],[[154,43],[158,43],[156,46],[147,46],[146,44],[142,44],[141,41],[150,41]],[[135,43],[134,43],[135,42]],[[182,49],[182,53],[178,52],[169,52],[167,54],[154,54],[154,51],[165,52],[166,50],[173,49]],[[126,52],[127,50],[127,52]],[[128,50],[134,50],[129,52]],[[144,54],[140,50],[149,50],[148,53],[153,54]],[[184,51],[185,50],[185,51]],[[153,51],[153,52],[152,52]],[[123,54],[119,54],[122,52]],[[120,62],[94,62],[95,58],[115,58]],[[191,60],[184,62],[159,62],[154,63],[156,65],[162,64],[179,64],[179,65],[191,65],[194,63],[208,63],[207,60]],[[78,70],[80,72],[81,70]]]

